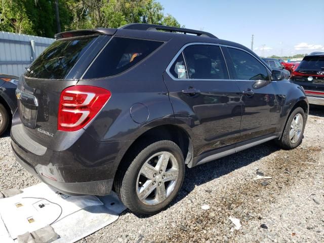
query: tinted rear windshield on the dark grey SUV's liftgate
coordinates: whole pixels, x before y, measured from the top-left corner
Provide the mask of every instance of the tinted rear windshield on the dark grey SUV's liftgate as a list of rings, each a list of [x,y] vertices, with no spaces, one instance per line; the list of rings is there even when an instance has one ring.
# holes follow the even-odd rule
[[[30,71],[25,75],[34,78],[64,79],[96,37],[59,39],[31,64]]]

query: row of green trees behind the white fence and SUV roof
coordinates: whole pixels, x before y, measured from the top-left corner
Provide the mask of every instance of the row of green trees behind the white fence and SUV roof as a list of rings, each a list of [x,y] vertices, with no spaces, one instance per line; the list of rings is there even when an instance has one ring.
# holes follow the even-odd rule
[[[155,0],[0,0],[0,4],[0,30],[46,37],[128,23],[180,26]]]

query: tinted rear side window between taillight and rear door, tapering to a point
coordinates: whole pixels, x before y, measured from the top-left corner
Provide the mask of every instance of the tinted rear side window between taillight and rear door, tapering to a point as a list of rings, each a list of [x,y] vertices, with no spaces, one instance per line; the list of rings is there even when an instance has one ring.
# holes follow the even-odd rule
[[[108,77],[124,72],[146,58],[162,44],[163,42],[145,39],[113,37],[83,78]]]

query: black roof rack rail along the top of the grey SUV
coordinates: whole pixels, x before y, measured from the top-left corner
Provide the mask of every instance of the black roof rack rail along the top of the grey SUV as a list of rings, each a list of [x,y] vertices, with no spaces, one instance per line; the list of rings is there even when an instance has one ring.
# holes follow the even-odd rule
[[[158,25],[158,24],[127,24],[124,26],[119,27],[120,29],[136,29],[136,30],[166,30],[169,32],[182,32],[184,34],[196,34],[198,36],[208,36],[212,38],[217,38],[215,35],[205,32],[205,31],[200,31],[200,30],[195,30],[195,29],[186,29],[186,28],[177,28],[177,27],[171,27],[171,26],[166,26],[166,25]]]

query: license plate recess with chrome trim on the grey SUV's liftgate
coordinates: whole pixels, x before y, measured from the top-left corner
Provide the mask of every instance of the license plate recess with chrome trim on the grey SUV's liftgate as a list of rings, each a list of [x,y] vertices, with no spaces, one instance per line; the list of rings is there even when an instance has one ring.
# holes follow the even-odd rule
[[[22,123],[28,128],[36,128],[38,101],[33,95],[16,90],[18,111]]]

